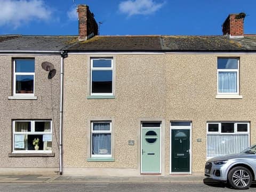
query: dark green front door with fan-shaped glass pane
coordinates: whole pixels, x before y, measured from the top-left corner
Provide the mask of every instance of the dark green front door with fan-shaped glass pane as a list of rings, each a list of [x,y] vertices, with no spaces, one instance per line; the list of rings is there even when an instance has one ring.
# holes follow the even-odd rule
[[[172,172],[189,172],[189,130],[172,130]]]

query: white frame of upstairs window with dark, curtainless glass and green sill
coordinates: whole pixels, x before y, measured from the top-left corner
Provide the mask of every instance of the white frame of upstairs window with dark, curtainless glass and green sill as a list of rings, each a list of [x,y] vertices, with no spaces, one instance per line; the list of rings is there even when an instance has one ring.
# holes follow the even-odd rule
[[[111,67],[93,67],[94,60],[111,60]],[[91,58],[90,66],[90,95],[114,95],[114,66],[113,58]],[[111,70],[112,71],[112,92],[111,93],[92,93],[92,71]]]

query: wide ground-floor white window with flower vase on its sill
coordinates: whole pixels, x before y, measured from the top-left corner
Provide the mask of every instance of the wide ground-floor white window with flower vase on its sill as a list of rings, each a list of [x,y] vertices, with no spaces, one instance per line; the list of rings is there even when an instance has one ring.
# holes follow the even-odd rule
[[[13,153],[51,153],[52,121],[15,120]]]

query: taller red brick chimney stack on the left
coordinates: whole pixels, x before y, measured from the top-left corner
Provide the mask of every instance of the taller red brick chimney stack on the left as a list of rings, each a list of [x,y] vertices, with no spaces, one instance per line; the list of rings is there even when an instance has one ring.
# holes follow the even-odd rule
[[[87,40],[94,35],[98,35],[98,24],[94,19],[93,13],[89,10],[87,5],[78,5],[78,31],[79,41]]]

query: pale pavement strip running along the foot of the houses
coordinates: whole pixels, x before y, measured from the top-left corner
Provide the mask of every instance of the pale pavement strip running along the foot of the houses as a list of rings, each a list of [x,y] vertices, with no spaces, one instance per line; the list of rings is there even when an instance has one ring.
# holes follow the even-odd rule
[[[86,175],[0,175],[0,183],[203,183],[203,175],[139,175],[110,177]]]

